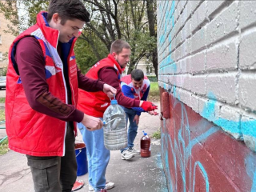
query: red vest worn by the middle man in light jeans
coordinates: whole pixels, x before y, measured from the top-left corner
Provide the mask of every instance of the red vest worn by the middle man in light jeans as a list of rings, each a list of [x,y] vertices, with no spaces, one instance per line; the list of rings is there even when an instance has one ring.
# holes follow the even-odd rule
[[[88,78],[98,79],[98,71],[105,66],[112,66],[117,71],[117,78],[120,80],[122,69],[111,54],[92,66],[86,76]],[[79,89],[78,110],[82,110],[85,114],[102,118],[108,106],[110,106],[110,98],[102,91],[87,92]]]

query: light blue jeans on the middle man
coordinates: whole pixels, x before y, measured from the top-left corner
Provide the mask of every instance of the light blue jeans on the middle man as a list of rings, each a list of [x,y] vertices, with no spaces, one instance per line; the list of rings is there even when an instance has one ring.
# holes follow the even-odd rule
[[[95,191],[105,189],[106,166],[110,161],[110,150],[106,150],[104,146],[103,128],[90,131],[82,123],[78,123],[78,129],[82,134],[83,142],[86,143],[89,183]]]

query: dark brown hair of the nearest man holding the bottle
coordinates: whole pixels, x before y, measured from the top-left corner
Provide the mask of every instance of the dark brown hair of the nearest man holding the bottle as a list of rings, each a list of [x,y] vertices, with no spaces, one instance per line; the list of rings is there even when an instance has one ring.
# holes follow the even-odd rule
[[[58,13],[62,19],[62,25],[66,20],[75,18],[83,22],[90,22],[90,14],[80,0],[51,0],[48,6],[47,22],[50,22],[55,13]]]

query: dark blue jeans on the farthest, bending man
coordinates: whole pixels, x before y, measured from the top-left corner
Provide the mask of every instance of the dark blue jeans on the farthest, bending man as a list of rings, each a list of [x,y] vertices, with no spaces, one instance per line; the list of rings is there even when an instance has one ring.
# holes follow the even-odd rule
[[[134,116],[136,115],[136,111],[132,109],[128,109],[126,107],[122,107],[122,109],[126,112],[126,123],[128,124],[129,119],[129,128],[128,128],[128,146],[121,150],[127,150],[129,147],[134,147],[134,140],[137,135],[138,125],[134,121]]]

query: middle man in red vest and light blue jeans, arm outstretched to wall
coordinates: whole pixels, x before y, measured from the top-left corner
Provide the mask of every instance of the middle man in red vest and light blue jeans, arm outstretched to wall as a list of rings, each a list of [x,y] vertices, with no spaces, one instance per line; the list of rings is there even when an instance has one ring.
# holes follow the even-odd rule
[[[151,102],[127,98],[120,89],[122,70],[130,60],[130,45],[123,40],[116,40],[111,45],[110,54],[97,62],[86,74],[88,78],[101,79],[117,89],[118,104],[126,107],[141,106],[143,110],[157,109]],[[102,91],[89,93],[79,90],[78,109],[86,114],[102,118],[106,108],[110,106],[110,98]],[[86,152],[89,170],[89,190],[98,191],[114,187],[113,182],[106,183],[106,166],[110,160],[110,150],[104,146],[103,129],[89,131],[87,127],[78,123],[83,141],[86,143]],[[130,154],[133,156],[133,154]]]

